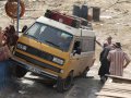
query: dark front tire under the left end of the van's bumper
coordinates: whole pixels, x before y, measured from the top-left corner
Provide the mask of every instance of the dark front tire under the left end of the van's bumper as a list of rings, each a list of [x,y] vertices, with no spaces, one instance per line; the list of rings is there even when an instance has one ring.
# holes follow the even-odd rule
[[[15,76],[17,78],[21,78],[21,77],[25,76],[26,73],[27,73],[26,69],[24,69],[24,68],[22,68],[20,65],[16,65],[16,68],[15,68]]]

